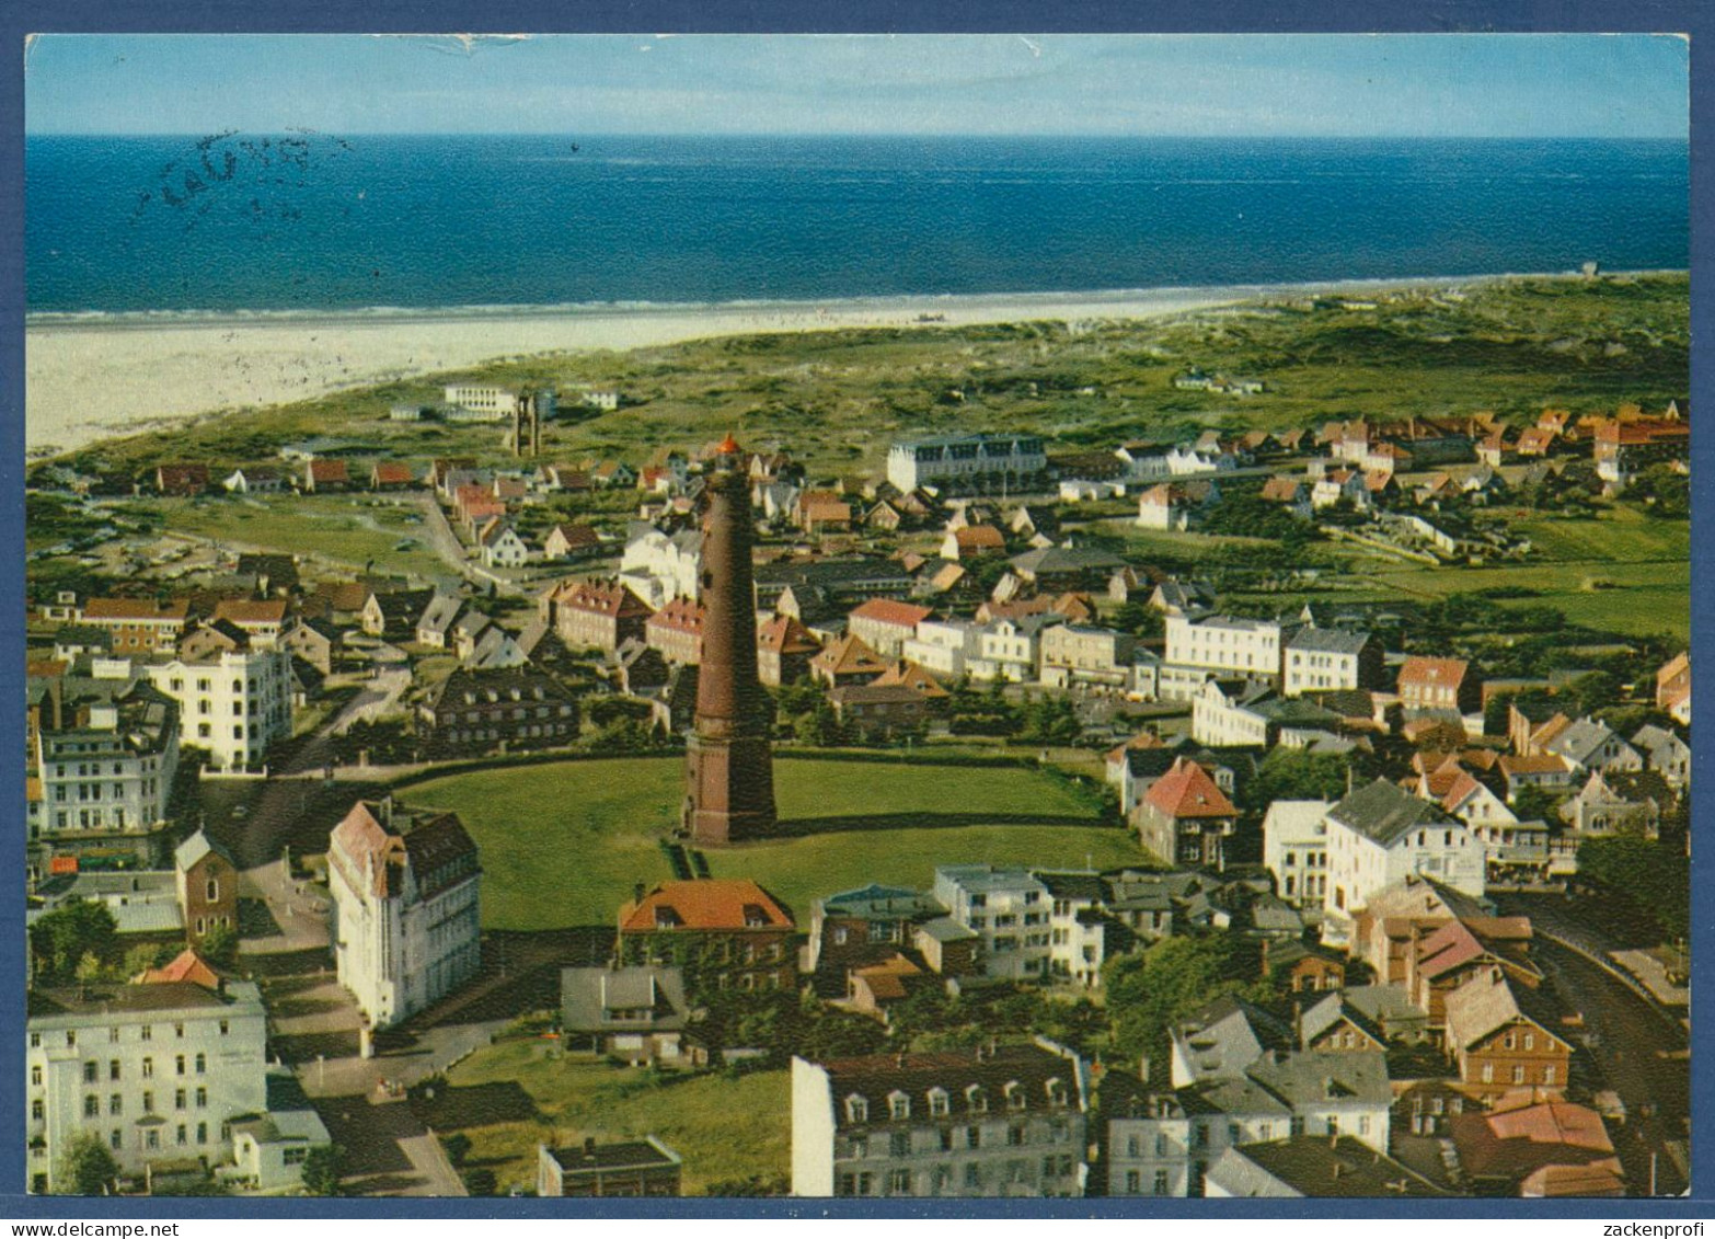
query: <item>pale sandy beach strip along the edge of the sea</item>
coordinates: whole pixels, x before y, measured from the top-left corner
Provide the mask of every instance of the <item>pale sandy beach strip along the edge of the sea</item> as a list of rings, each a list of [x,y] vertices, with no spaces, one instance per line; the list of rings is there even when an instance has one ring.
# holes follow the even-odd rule
[[[1576,273],[825,300],[43,312],[24,321],[24,446],[31,456],[57,455],[221,410],[458,372],[504,357],[626,352],[727,335],[1159,319],[1278,297],[1556,276]]]

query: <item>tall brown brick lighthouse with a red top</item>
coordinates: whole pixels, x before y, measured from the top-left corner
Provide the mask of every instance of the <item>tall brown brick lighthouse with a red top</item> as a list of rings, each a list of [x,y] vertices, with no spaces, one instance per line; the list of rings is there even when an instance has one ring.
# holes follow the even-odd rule
[[[749,479],[729,434],[707,477],[703,518],[703,661],[696,728],[686,750],[684,827],[703,844],[773,832],[768,698],[756,678]]]

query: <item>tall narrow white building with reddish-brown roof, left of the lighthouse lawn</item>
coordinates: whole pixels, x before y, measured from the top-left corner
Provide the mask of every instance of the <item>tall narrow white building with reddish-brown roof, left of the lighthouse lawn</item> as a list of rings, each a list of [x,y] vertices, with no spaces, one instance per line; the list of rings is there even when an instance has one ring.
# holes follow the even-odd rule
[[[482,963],[477,844],[454,813],[358,801],[328,843],[334,966],[370,1028],[422,1011]]]

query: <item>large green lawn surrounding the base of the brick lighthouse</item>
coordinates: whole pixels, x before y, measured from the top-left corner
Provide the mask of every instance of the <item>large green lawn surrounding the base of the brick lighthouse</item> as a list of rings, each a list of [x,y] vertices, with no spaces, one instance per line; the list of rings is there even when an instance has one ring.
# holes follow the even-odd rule
[[[868,882],[928,885],[935,865],[1096,867],[1142,860],[1125,831],[1034,771],[777,760],[780,817],[799,834],[708,853],[808,918],[816,896]],[[677,822],[679,759],[478,771],[401,795],[456,812],[482,853],[482,920],[539,930],[611,923],[636,882],[671,877],[657,846]]]

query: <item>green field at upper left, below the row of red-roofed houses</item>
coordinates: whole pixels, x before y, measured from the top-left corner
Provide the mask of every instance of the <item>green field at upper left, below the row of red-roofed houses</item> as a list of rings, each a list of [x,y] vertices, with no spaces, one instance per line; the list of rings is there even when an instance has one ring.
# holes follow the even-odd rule
[[[360,494],[262,494],[247,499],[156,499],[147,515],[161,529],[266,551],[314,554],[357,571],[374,561],[389,573],[446,577],[451,573],[432,549],[415,517],[415,506]],[[394,547],[412,539],[415,546]]]

